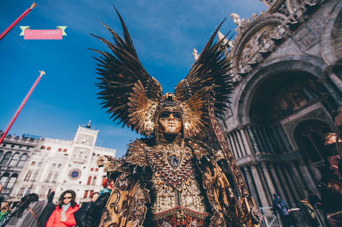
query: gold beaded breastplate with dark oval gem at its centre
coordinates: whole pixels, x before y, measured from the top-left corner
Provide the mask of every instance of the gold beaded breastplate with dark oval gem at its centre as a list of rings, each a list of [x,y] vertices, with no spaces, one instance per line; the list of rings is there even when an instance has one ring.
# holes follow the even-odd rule
[[[155,220],[174,214],[179,219],[187,215],[205,219],[210,215],[196,179],[193,153],[184,146],[184,141],[150,147],[146,156],[157,192],[152,204]]]

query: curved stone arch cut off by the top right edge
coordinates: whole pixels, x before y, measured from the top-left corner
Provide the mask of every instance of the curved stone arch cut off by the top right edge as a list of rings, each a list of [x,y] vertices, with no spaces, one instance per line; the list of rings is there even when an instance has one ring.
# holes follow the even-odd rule
[[[331,17],[337,15],[334,20],[331,20]],[[338,1],[335,5],[333,5],[332,10],[329,12],[327,16],[326,23],[324,25],[324,31],[321,36],[321,51],[322,56],[326,63],[333,64],[338,60],[335,53],[335,45],[334,40],[336,38],[336,31],[342,19],[342,2]]]

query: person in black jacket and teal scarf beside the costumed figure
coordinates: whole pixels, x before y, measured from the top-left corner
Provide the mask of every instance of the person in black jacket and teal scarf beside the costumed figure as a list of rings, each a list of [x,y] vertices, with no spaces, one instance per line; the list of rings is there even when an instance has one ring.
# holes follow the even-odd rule
[[[86,223],[84,224],[84,227],[98,226],[113,187],[114,181],[111,181],[109,184],[107,181],[107,187],[103,188],[96,201],[88,208],[86,214]]]

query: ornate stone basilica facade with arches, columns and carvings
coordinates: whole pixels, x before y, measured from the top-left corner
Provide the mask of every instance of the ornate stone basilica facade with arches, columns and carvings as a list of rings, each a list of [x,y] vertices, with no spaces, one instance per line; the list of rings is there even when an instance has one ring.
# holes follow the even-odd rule
[[[239,67],[221,126],[257,205],[272,206],[277,193],[295,207],[308,191],[319,195],[321,136],[337,132],[342,1],[262,1],[267,10],[251,18],[231,14],[237,35],[226,55]],[[199,137],[212,144],[210,135]]]

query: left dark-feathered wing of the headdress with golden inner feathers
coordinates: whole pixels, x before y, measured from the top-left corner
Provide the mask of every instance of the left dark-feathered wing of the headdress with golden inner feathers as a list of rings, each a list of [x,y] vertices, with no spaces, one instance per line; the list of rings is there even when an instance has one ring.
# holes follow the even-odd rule
[[[110,118],[115,117],[113,121],[120,119],[119,123],[123,122],[123,126],[126,124],[132,130],[149,136],[153,132],[153,124],[145,121],[150,122],[154,106],[162,95],[162,87],[142,66],[126,25],[116,12],[121,21],[123,39],[101,21],[113,35],[114,43],[93,35],[113,52],[91,49],[103,55],[100,59],[94,57],[100,62],[96,73],[102,76],[98,78],[101,82],[97,86],[103,89],[98,93],[101,95],[98,99],[103,100],[103,108],[109,108],[107,112],[111,114]]]

